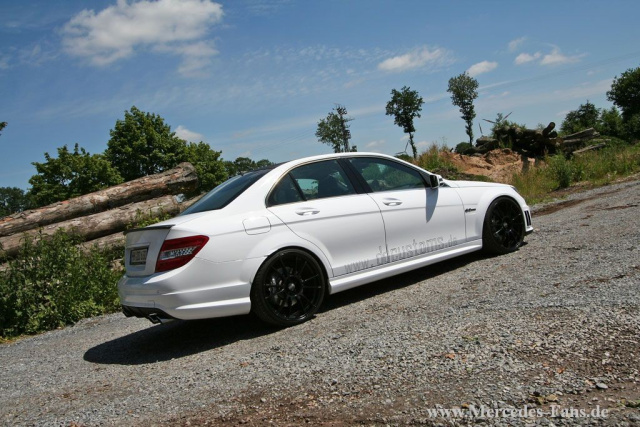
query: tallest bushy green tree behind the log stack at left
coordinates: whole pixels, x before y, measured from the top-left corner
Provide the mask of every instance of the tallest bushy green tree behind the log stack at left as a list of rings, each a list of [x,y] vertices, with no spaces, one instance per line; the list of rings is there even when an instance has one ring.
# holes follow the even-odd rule
[[[116,121],[110,135],[105,156],[125,181],[171,169],[186,155],[186,141],[162,117],[135,106]]]

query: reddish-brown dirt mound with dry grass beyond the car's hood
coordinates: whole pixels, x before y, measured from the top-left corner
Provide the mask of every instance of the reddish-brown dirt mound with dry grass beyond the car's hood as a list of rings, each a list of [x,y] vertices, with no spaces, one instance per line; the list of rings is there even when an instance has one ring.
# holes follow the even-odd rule
[[[514,173],[526,170],[534,162],[534,159],[514,153],[508,148],[470,156],[448,151],[441,155],[465,174],[484,175],[496,182],[509,182]]]

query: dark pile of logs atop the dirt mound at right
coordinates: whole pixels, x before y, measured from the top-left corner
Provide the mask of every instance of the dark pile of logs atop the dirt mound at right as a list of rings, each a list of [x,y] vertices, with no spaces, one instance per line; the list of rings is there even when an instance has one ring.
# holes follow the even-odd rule
[[[541,157],[556,153],[570,155],[604,146],[597,144],[583,148],[588,141],[600,136],[593,128],[560,138],[554,130],[555,126],[556,124],[551,122],[542,130],[523,129],[517,126],[498,128],[495,131],[496,138],[488,136],[478,138],[473,151],[484,154],[496,148],[511,146],[513,151],[527,157]]]

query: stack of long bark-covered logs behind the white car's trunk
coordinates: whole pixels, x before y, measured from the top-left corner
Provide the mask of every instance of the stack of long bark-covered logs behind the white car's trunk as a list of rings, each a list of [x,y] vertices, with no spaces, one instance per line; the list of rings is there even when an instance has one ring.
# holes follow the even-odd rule
[[[198,176],[190,163],[114,187],[0,218],[0,248],[16,255],[25,238],[41,238],[65,229],[85,246],[124,245],[125,229],[143,218],[176,215],[192,202]]]

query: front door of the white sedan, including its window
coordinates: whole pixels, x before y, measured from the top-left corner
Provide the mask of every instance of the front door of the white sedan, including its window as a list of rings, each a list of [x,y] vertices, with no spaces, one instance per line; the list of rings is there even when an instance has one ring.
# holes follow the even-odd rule
[[[385,224],[385,262],[395,262],[464,243],[465,217],[458,193],[428,188],[422,174],[379,157],[348,160],[371,192]]]

